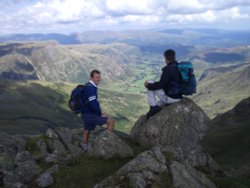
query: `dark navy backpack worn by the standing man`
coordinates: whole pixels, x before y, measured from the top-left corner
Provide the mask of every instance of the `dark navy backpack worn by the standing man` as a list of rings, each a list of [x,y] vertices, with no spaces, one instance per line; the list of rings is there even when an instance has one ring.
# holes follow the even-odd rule
[[[86,103],[84,99],[85,87],[86,85],[78,85],[71,92],[68,106],[74,114],[81,113],[83,105]]]

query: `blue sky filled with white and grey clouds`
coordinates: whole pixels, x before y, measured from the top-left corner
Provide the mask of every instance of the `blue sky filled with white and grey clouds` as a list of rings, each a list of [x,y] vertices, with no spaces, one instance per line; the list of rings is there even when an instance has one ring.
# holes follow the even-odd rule
[[[250,30],[250,0],[0,0],[0,34]]]

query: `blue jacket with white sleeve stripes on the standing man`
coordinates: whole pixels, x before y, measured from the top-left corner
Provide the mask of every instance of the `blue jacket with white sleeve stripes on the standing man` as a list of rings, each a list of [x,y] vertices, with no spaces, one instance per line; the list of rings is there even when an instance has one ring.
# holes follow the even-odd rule
[[[98,102],[97,87],[92,81],[89,81],[86,84],[84,98],[86,102],[83,105],[82,114],[94,114],[101,116],[102,112]]]

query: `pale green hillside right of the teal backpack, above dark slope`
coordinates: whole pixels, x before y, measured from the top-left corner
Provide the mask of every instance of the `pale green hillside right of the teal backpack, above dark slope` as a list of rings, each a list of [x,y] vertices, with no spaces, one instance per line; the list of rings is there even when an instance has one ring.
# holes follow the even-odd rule
[[[193,99],[210,117],[215,117],[249,95],[250,65],[246,64],[198,82],[198,93]]]

